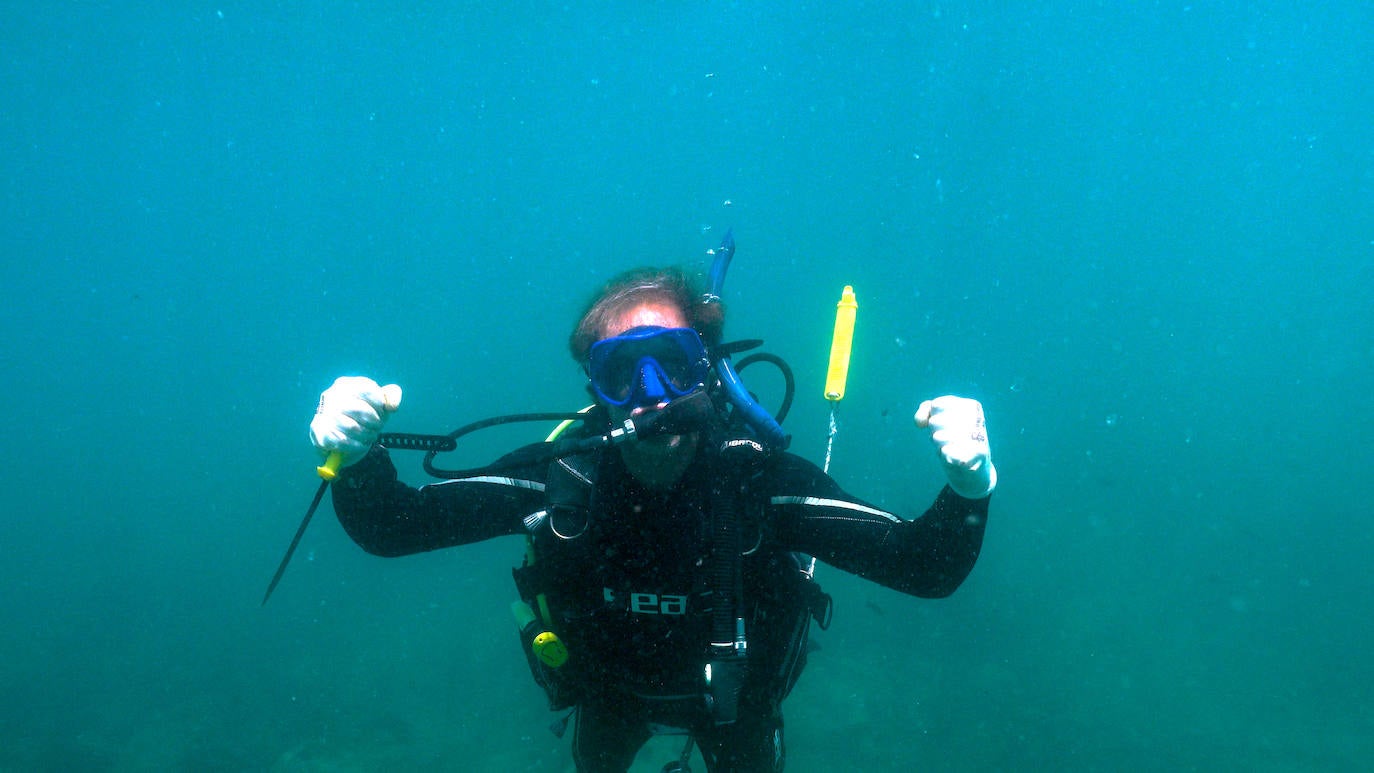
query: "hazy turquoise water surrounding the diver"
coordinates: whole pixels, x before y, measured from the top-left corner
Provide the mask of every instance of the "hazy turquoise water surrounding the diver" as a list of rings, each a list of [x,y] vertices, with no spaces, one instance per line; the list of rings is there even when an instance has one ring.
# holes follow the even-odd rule
[[[0,11],[0,769],[572,770],[518,540],[326,505],[260,607],[306,424],[577,408],[587,297],[725,228],[793,450],[852,284],[833,474],[918,515],[958,393],[1002,476],[954,597],[822,568],[789,770],[1366,769],[1374,7],[491,5]]]

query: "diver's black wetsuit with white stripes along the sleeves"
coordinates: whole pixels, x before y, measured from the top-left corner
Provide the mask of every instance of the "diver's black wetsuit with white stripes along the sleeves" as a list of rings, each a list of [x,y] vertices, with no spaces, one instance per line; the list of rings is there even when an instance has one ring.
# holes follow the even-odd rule
[[[570,654],[561,676],[574,685],[578,770],[624,772],[650,724],[690,730],[714,773],[782,770],[780,703],[804,665],[809,610],[798,597],[812,585],[794,553],[923,597],[954,592],[978,557],[987,498],[945,487],[923,516],[903,520],[801,457],[768,456],[750,482],[758,508],[742,526],[742,541],[757,546],[742,562],[749,667],[739,719],[717,725],[702,699],[712,626],[706,514],[713,482],[727,476],[713,448],[703,442],[668,493],[640,486],[616,450],[577,457],[591,482],[584,518],[536,527],[554,630]],[[375,448],[341,472],[334,508],[365,551],[400,556],[528,534],[523,519],[545,511],[545,483],[558,474],[547,463],[518,465],[414,489]]]

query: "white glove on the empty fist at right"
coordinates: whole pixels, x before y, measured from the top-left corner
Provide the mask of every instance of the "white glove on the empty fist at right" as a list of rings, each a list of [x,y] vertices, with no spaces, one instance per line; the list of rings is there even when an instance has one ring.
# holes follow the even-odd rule
[[[947,394],[916,408],[916,426],[930,430],[949,487],[969,500],[981,500],[998,486],[982,404]]]

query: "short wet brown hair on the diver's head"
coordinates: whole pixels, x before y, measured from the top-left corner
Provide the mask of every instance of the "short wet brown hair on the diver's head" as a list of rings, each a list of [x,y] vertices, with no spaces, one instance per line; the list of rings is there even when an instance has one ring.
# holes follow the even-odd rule
[[[706,302],[702,283],[680,268],[636,268],[607,281],[583,312],[567,349],[573,360],[587,362],[592,345],[602,339],[606,325],[639,303],[665,303],[682,310],[706,346],[720,343],[725,327],[725,308],[720,301]]]

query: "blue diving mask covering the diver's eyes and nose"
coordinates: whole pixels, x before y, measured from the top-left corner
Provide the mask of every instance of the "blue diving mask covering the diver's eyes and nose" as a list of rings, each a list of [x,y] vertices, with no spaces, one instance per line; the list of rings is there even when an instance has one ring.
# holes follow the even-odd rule
[[[654,406],[706,384],[710,358],[691,328],[643,325],[592,345],[592,391],[618,408]]]

